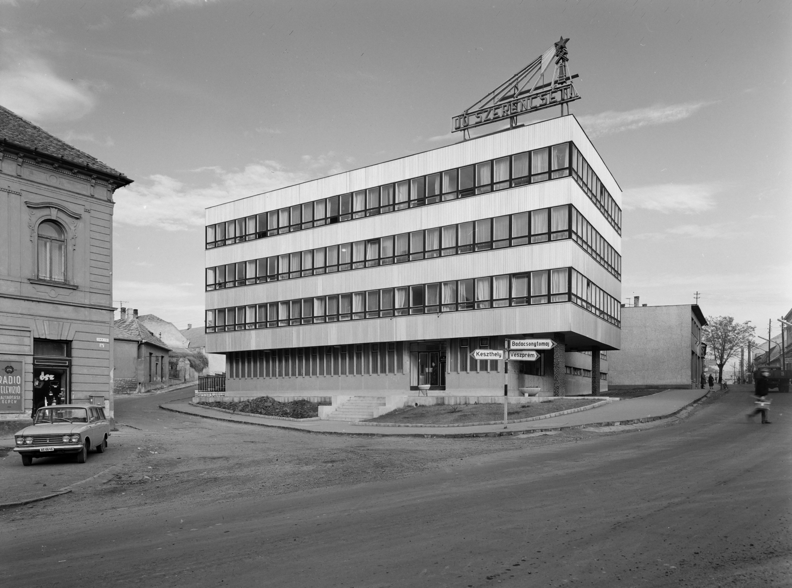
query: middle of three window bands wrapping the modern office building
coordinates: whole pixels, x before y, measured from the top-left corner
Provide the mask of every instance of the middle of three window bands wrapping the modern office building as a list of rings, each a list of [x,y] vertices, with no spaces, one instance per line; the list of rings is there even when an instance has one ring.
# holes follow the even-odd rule
[[[561,207],[506,214],[480,221],[461,222],[435,229],[208,267],[206,289],[219,290],[361,267],[402,264],[474,251],[516,247],[527,243],[558,241],[570,238],[570,224],[571,238],[617,279],[621,279],[622,257],[575,207],[565,204]]]

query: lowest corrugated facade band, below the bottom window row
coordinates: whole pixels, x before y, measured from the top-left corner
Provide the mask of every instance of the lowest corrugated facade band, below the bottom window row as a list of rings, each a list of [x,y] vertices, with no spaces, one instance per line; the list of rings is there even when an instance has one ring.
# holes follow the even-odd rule
[[[212,353],[536,332],[574,332],[588,340],[599,342],[606,349],[618,348],[620,341],[618,327],[567,302],[210,333],[207,335],[207,351]]]

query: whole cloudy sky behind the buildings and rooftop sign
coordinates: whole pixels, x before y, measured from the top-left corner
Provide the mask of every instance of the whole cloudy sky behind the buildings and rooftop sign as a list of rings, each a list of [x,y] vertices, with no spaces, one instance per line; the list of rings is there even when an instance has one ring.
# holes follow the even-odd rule
[[[792,306],[790,6],[0,0],[0,104],[135,180],[115,298],[185,328],[204,207],[455,142],[451,116],[563,35],[624,191],[623,296],[698,291],[766,333]]]

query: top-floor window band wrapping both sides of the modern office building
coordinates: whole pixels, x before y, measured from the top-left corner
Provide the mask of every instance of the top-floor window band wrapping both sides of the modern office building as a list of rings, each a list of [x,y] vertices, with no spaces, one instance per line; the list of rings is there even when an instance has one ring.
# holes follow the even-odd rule
[[[570,157],[570,152],[571,156]],[[490,161],[431,173],[393,184],[322,198],[277,211],[219,222],[206,227],[206,247],[332,225],[375,214],[402,211],[524,184],[574,176],[608,221],[621,232],[621,210],[588,167],[573,142],[543,147]]]

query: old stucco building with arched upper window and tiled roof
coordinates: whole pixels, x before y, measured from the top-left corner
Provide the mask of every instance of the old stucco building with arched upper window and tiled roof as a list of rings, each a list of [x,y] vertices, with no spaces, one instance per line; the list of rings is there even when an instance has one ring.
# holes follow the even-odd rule
[[[92,396],[112,415],[112,195],[127,184],[0,107],[0,428]]]

